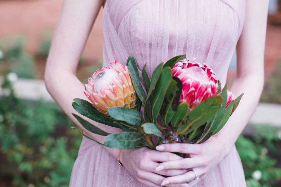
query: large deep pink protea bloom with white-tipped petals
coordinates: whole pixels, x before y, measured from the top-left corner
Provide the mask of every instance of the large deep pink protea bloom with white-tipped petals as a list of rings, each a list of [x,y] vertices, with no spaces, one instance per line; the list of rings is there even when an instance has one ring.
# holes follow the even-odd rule
[[[206,64],[189,62],[183,59],[172,68],[173,77],[178,77],[182,83],[180,103],[194,107],[211,96],[217,95],[218,84],[213,70]]]

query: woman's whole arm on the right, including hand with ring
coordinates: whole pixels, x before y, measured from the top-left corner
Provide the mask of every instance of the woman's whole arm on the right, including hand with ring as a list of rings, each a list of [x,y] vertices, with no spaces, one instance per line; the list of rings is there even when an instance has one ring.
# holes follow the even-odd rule
[[[237,77],[231,88],[236,97],[244,93],[237,110],[229,118],[225,127],[204,143],[157,146],[156,149],[160,151],[180,152],[191,156],[180,161],[163,162],[158,165],[158,171],[192,168],[200,179],[203,179],[228,155],[256,108],[263,89],[267,10],[268,0],[246,1],[246,20],[237,44]],[[163,180],[162,185],[182,183],[181,187],[191,187],[200,181],[194,179],[195,174],[191,171],[168,177]]]

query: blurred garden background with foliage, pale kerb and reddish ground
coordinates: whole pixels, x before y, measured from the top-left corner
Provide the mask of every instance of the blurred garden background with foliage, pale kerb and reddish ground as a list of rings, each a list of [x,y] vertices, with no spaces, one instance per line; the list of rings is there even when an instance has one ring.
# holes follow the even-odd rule
[[[44,86],[62,0],[0,0],[0,187],[68,186],[81,143]],[[102,64],[100,11],[78,65],[86,82]],[[228,80],[236,72],[234,55]],[[59,80],[58,80],[59,81]],[[248,187],[281,186],[281,2],[270,0],[265,87],[236,142]]]

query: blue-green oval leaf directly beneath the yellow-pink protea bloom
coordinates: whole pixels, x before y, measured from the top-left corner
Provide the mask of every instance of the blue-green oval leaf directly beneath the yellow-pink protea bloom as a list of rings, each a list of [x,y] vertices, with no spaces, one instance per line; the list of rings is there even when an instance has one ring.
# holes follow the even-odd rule
[[[112,107],[108,113],[116,120],[121,120],[132,125],[139,125],[142,119],[141,113],[137,110],[126,107]]]

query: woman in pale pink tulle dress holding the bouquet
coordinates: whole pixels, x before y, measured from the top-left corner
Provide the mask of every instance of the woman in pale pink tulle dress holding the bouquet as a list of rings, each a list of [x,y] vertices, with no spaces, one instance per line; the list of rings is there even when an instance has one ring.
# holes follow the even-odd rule
[[[78,0],[64,1],[47,60],[45,82],[64,112],[71,115],[73,98],[85,98],[76,68],[101,6],[103,65],[133,54],[148,73],[162,61],[186,54],[205,62],[222,84],[237,46],[237,77],[231,91],[244,92],[225,127],[199,145],[165,144],[156,150],[107,148],[83,138],[70,186],[246,186],[234,143],[258,103],[263,87],[263,58],[268,0]],[[59,80],[59,81],[58,81]],[[93,122],[94,123],[94,122]],[[104,131],[120,130],[97,124]],[[190,154],[181,158],[172,152]],[[119,158],[124,167],[117,162]],[[193,171],[190,171],[190,170]],[[197,180],[197,179],[198,180]]]

